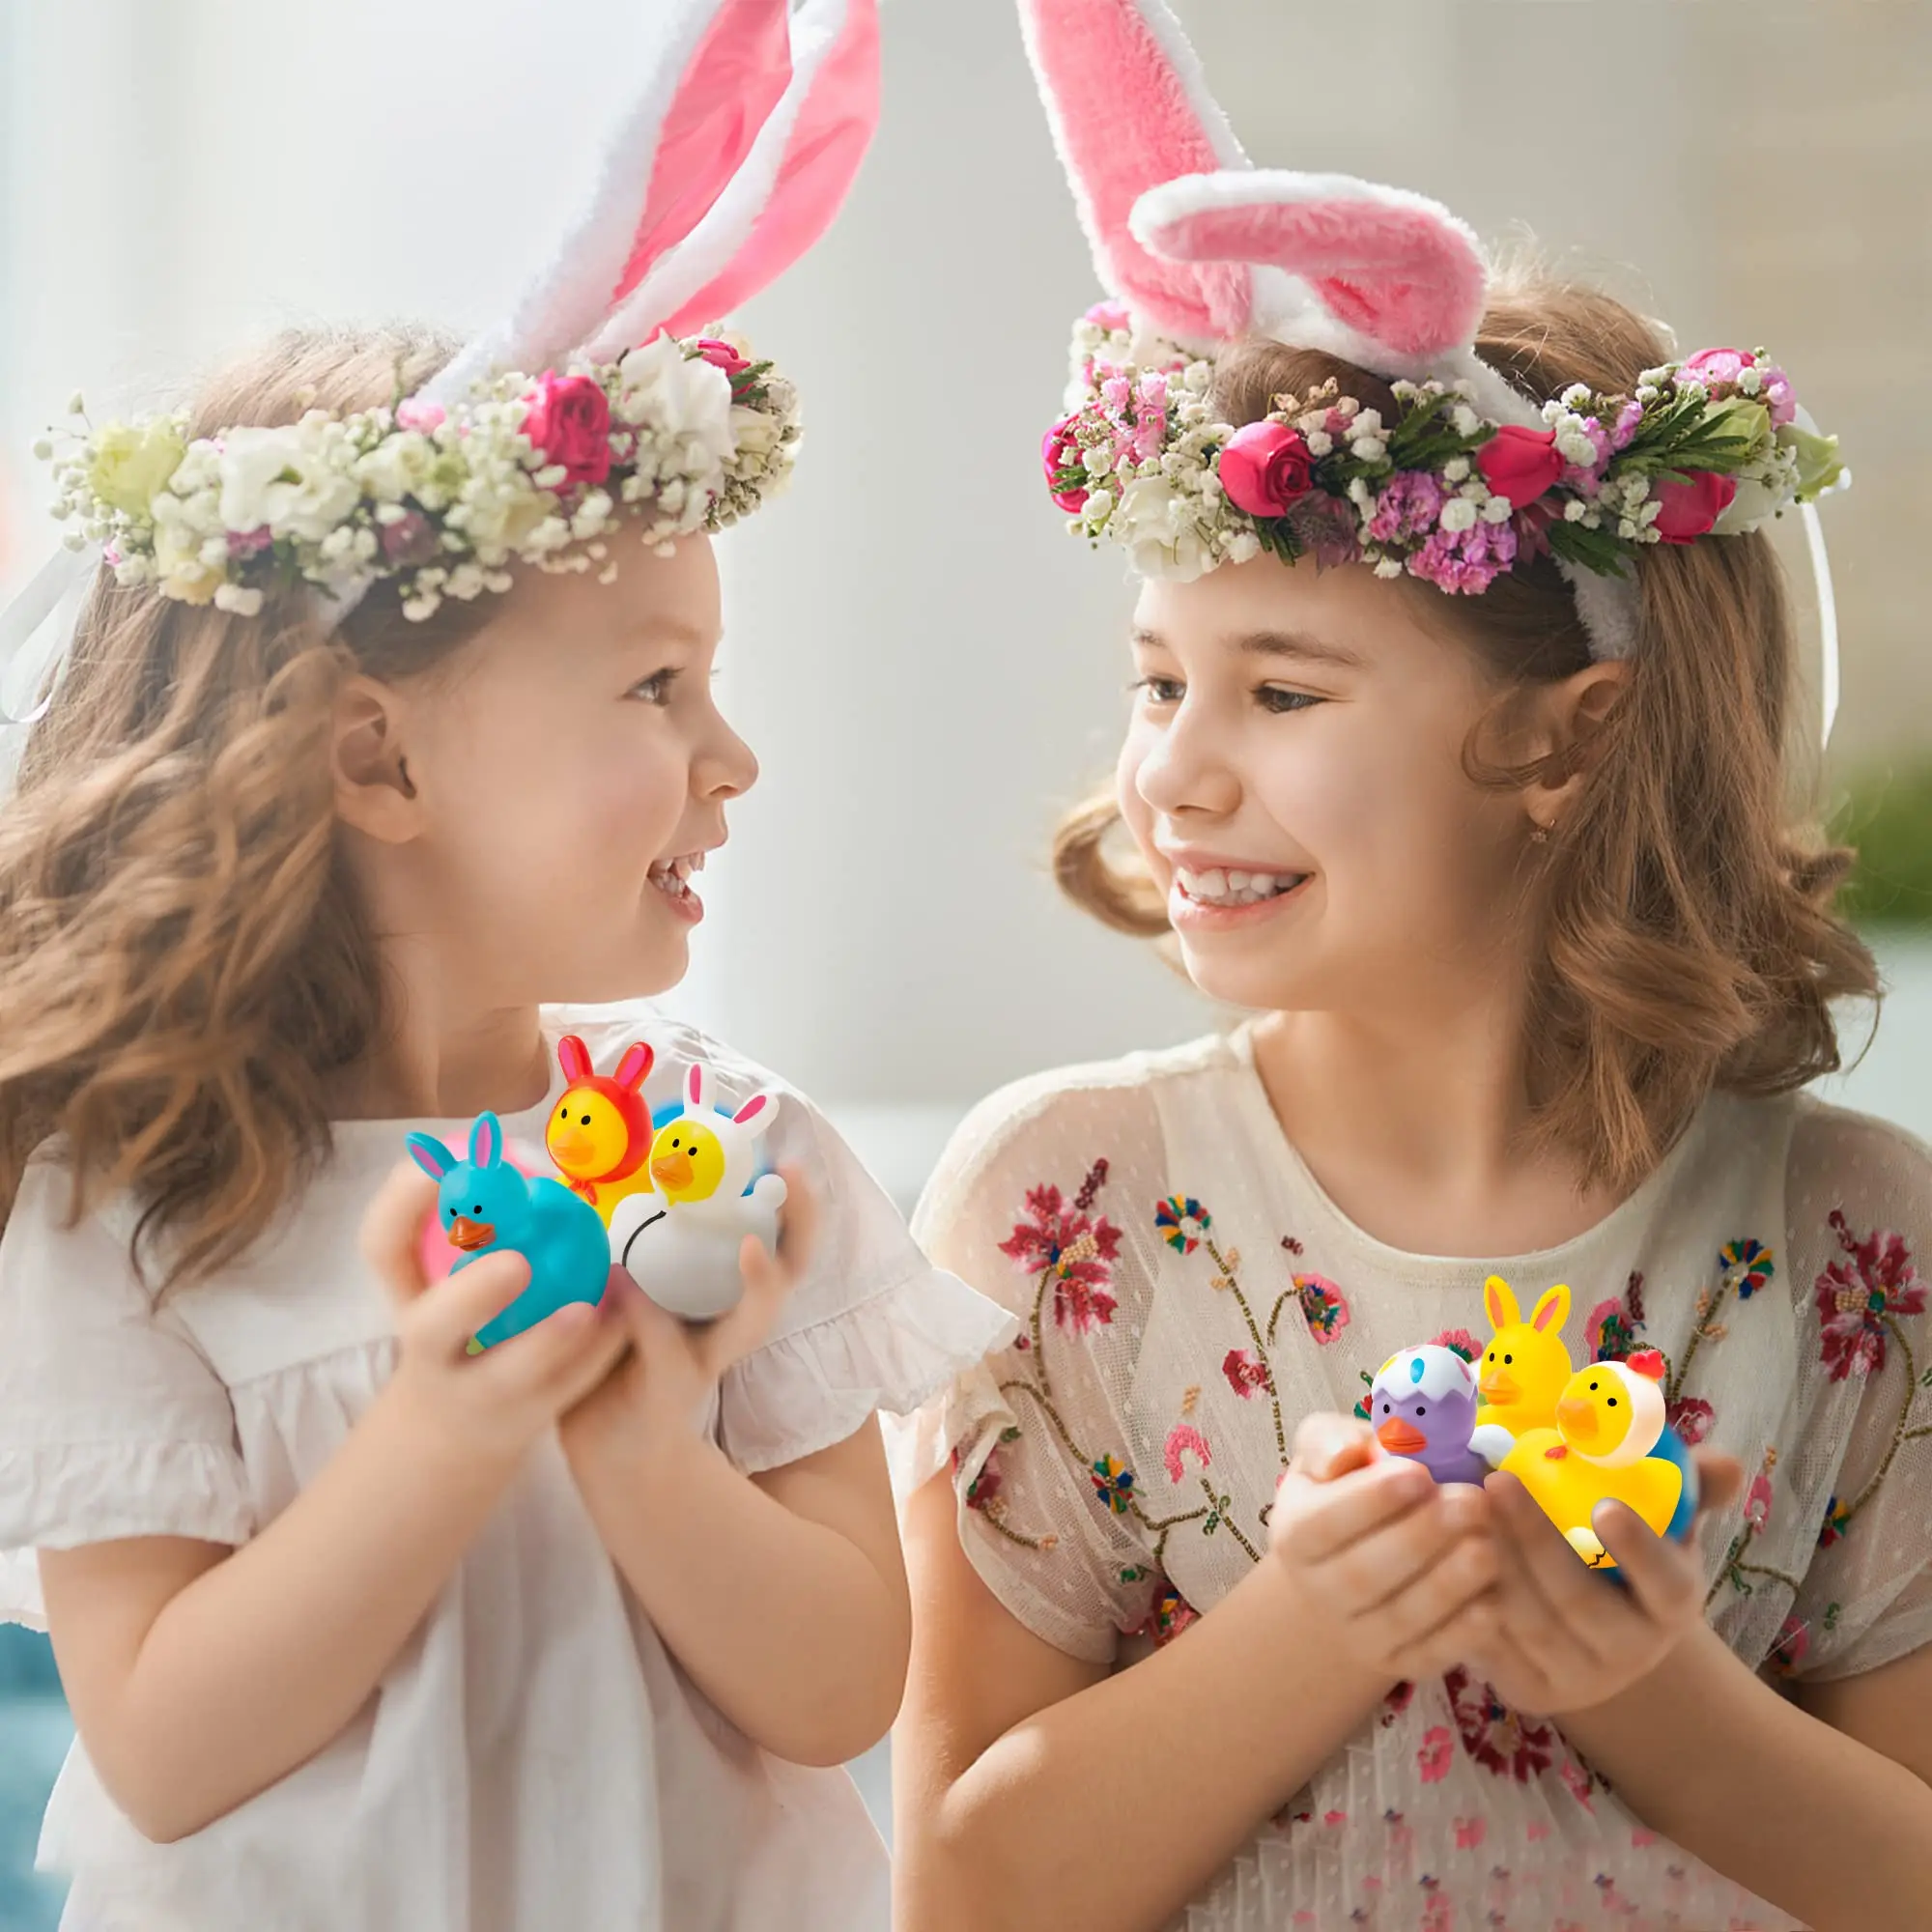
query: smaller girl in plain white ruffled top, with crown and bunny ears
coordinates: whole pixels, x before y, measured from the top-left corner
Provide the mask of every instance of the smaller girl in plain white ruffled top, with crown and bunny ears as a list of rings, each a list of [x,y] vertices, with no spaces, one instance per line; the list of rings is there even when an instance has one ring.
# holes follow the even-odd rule
[[[110,568],[0,811],[0,1615],[73,1706],[85,1932],[887,1924],[873,1412],[1007,1318],[792,1092],[779,1256],[703,1331],[616,1275],[471,1356],[526,1264],[429,1279],[396,1165],[483,1109],[541,1148],[566,1036],[653,1047],[653,1109],[773,1084],[643,999],[757,773],[707,533],[796,439],[692,325],[837,209],[875,17],[665,33],[506,330],[290,336],[62,462]]]

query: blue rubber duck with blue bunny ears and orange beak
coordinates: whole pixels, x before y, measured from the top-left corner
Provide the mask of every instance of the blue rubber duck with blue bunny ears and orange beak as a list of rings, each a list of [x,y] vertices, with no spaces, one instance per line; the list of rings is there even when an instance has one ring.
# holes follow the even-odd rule
[[[410,1159],[437,1182],[437,1217],[458,1250],[456,1267],[504,1252],[529,1262],[529,1287],[477,1329],[471,1354],[522,1335],[570,1302],[603,1300],[611,1275],[603,1217],[560,1180],[526,1179],[504,1161],[497,1115],[477,1115],[464,1161],[435,1134],[410,1134],[408,1148]]]

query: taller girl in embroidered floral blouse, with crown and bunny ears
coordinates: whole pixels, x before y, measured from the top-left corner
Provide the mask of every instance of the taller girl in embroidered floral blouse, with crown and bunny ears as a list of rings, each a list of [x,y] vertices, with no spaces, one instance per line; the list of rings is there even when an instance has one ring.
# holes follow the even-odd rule
[[[1159,0],[1020,12],[1119,298],[1049,491],[1144,580],[1059,877],[1250,1016],[993,1095],[922,1202],[1022,1333],[904,1445],[902,1924],[1932,1924],[1932,1159],[1799,1092],[1874,974],[1752,533],[1832,446],[1248,168]],[[1615,1580],[1364,1420],[1557,1335],[1660,1350],[1700,1464],[1689,1546],[1594,1513]]]

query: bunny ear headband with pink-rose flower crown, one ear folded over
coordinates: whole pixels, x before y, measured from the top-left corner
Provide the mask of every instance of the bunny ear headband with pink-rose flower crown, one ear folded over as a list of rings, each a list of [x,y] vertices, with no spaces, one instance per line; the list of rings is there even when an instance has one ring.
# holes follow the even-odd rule
[[[1360,560],[1476,595],[1549,554],[1592,655],[1627,657],[1629,560],[1756,529],[1845,481],[1762,352],[1704,350],[1629,396],[1530,402],[1476,354],[1490,269],[1447,209],[1341,174],[1254,168],[1163,0],[1020,0],[1039,93],[1101,282],[1074,328],[1068,413],[1041,458],[1070,529],[1142,576],[1269,551]],[[1260,423],[1213,415],[1215,354],[1250,338],[1389,381],[1385,421],[1327,386]]]

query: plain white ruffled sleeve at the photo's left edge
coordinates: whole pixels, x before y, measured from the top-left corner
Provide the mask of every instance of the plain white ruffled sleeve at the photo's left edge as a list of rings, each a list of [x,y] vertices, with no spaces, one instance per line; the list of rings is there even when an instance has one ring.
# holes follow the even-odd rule
[[[220,1378],[155,1310],[124,1217],[70,1229],[66,1206],[66,1169],[37,1155],[0,1236],[0,1621],[37,1629],[37,1549],[255,1526]]]

